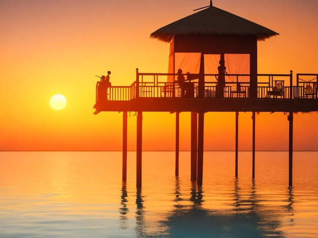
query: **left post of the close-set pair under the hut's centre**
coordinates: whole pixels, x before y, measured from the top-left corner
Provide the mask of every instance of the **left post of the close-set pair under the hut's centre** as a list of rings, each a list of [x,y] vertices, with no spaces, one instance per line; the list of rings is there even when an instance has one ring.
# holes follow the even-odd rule
[[[191,181],[197,180],[198,112],[191,112]]]

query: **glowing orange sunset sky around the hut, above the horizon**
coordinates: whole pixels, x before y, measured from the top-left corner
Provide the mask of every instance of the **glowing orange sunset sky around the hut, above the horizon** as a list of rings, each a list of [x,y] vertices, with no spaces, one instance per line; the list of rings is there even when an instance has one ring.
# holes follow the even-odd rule
[[[214,0],[214,6],[280,35],[258,44],[259,73],[318,73],[316,0]],[[131,85],[135,69],[167,72],[169,44],[149,39],[208,0],[1,0],[0,150],[120,150],[122,113],[93,115],[94,75]],[[49,107],[54,94],[68,105]],[[129,149],[136,148],[136,116]],[[251,149],[251,113],[240,113],[240,149]],[[180,114],[180,149],[189,149],[189,113]],[[173,150],[175,115],[144,113],[144,150]],[[318,114],[297,114],[295,150],[318,149]],[[288,149],[283,113],[257,116],[258,150]],[[205,149],[233,150],[235,113],[205,114]]]

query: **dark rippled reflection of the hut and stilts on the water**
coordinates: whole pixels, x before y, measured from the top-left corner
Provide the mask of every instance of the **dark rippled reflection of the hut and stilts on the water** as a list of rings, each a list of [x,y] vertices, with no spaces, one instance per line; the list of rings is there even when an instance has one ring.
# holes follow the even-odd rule
[[[137,189],[135,229],[138,237],[284,237],[281,230],[283,218],[294,214],[293,191],[290,187],[284,191],[285,199],[279,203],[264,203],[271,197],[264,198],[254,180],[249,192],[246,192],[235,179],[233,191],[224,201],[228,204],[227,209],[206,208],[204,190],[196,183],[190,185],[186,194],[180,190],[176,177],[174,209],[159,221],[159,231],[153,227],[149,229],[146,224],[147,211],[141,189]],[[293,221],[289,223],[292,225]]]

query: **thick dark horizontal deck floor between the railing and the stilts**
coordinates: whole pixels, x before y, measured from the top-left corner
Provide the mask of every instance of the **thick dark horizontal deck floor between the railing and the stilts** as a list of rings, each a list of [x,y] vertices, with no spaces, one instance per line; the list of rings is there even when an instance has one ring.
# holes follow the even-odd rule
[[[242,99],[242,98],[138,98],[130,101],[107,101],[99,111],[318,111],[318,99]]]

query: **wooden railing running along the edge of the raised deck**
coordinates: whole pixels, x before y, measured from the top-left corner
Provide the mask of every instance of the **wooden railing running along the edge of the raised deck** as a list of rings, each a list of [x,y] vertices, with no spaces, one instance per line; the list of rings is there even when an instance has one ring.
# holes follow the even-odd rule
[[[182,90],[178,84],[178,74],[173,73],[140,73],[136,71],[136,81],[131,86],[113,86],[108,89],[108,100],[111,101],[129,101],[136,98],[250,98],[251,85],[249,74],[228,74],[222,96],[218,92],[217,74],[183,74],[185,82],[193,87],[192,95],[182,95]],[[312,80],[302,81],[301,77],[312,77]],[[297,74],[297,85],[293,86],[293,73],[290,74],[258,74],[257,75],[257,98],[275,98],[275,99],[293,99],[293,98],[317,98],[317,76],[318,74]],[[187,77],[194,80],[187,81]],[[199,80],[201,78],[201,81]],[[202,81],[202,79],[204,81]],[[167,80],[169,82],[167,82]],[[201,83],[200,83],[201,82]],[[273,93],[275,84],[283,82],[280,94]],[[308,94],[305,90],[306,85],[312,85],[313,92]],[[97,83],[97,100],[98,100]],[[307,87],[309,89],[309,87]],[[307,92],[307,93],[306,93]],[[203,96],[202,96],[203,95]],[[273,96],[274,95],[274,96]]]

